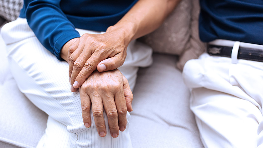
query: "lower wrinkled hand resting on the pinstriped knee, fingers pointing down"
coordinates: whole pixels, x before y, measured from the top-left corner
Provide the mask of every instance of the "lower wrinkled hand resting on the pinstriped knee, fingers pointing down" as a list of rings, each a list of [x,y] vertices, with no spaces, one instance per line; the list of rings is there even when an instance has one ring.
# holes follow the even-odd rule
[[[80,99],[83,123],[90,127],[90,106],[98,134],[106,136],[103,108],[108,117],[111,136],[116,138],[119,130],[126,129],[126,113],[132,111],[133,95],[127,79],[118,69],[98,72],[94,71],[80,86]]]

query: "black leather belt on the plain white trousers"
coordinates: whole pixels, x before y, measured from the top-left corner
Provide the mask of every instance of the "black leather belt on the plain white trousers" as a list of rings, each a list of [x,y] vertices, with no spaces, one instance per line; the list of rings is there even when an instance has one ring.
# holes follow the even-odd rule
[[[228,46],[208,45],[207,52],[210,55],[231,58],[232,48]],[[239,47],[237,59],[246,59],[263,62],[263,49]]]

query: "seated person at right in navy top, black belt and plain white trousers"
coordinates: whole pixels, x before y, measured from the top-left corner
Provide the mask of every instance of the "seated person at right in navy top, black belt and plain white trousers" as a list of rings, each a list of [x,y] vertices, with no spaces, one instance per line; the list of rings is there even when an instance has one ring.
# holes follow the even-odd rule
[[[207,52],[188,61],[191,89],[205,148],[263,147],[263,1],[200,0],[200,39]]]

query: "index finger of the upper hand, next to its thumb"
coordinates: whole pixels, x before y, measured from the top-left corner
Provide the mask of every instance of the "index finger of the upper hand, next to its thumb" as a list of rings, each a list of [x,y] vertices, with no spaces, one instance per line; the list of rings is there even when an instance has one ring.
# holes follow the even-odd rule
[[[101,62],[103,59],[106,59],[107,57],[108,56],[106,54],[102,55],[101,53],[95,51],[84,64],[83,68],[75,79],[73,87],[79,88],[83,84],[83,82],[90,76],[90,74],[92,74],[92,72],[96,70],[98,63]]]

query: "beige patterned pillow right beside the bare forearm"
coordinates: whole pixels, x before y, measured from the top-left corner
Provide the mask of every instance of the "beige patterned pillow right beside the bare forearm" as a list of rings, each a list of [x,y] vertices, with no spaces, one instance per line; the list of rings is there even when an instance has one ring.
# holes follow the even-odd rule
[[[157,53],[182,54],[190,38],[191,12],[192,0],[182,0],[157,30],[139,40]]]

